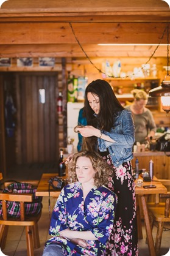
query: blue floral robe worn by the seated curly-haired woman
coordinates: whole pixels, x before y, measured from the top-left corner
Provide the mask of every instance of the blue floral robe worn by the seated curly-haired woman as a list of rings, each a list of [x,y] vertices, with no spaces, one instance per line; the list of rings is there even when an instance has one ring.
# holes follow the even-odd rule
[[[105,248],[113,230],[117,196],[105,186],[93,187],[83,200],[82,184],[79,182],[63,187],[52,212],[49,235],[46,242],[58,243],[64,255],[105,255]],[[97,240],[87,240],[87,248],[73,244],[69,239],[60,237],[58,232],[70,230],[91,230]]]

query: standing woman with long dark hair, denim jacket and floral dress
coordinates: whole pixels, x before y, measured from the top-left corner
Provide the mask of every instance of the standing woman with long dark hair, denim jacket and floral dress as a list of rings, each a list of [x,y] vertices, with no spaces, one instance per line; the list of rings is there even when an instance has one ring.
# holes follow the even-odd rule
[[[115,171],[108,187],[118,195],[115,222],[107,255],[138,255],[135,190],[130,160],[135,142],[132,113],[124,109],[104,80],[92,81],[85,91],[87,126],[74,130],[83,136],[82,149],[97,151]]]

